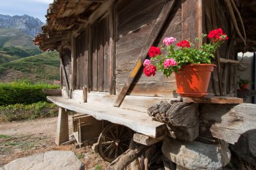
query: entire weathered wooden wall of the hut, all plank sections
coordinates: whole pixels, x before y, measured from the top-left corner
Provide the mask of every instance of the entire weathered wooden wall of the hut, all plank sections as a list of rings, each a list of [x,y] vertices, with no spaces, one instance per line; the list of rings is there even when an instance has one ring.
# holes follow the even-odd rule
[[[172,0],[174,1],[174,0]],[[182,38],[191,37],[203,33],[208,33],[215,28],[222,28],[228,34],[229,40],[222,44],[218,50],[218,56],[222,58],[236,59],[235,37],[230,21],[230,14],[226,10],[226,4],[220,0],[200,1],[175,1],[164,27],[162,28],[154,46],[161,46],[165,37],[173,36],[177,41]],[[146,43],[156,19],[164,7],[166,0],[152,1],[128,1],[119,0],[115,4],[114,30],[115,35],[115,77],[110,77],[110,17],[109,11],[88,28],[79,33],[75,38],[75,89],[82,89],[88,85],[90,91],[110,91],[110,81],[115,79],[116,94],[118,95],[125,84],[129,73],[135,66],[139,53]],[[194,4],[194,6],[189,4]],[[200,6],[201,5],[201,6]],[[199,7],[199,9],[198,9]],[[195,18],[186,13],[190,8],[195,11]],[[202,10],[201,10],[202,9]],[[199,11],[199,13],[197,13]],[[222,12],[218,12],[222,11]],[[189,15],[190,19],[187,19]],[[194,30],[186,24],[193,20],[202,24]],[[191,29],[192,31],[189,31]],[[193,35],[192,35],[193,34]],[[90,38],[91,36],[91,38]],[[205,38],[205,42],[207,42]],[[69,54],[68,54],[69,55]],[[71,56],[71,54],[70,54]],[[69,56],[69,57],[70,57]],[[65,62],[70,62],[70,58],[65,57]],[[67,64],[65,64],[67,65]],[[70,69],[68,65],[67,70]],[[176,89],[174,75],[166,78],[162,73],[157,73],[154,77],[146,77],[143,68],[139,71],[135,81],[128,91],[128,95],[146,96],[172,96]],[[236,67],[230,64],[221,64],[223,95],[235,94],[236,91]],[[69,82],[71,83],[71,71],[67,71]],[[211,95],[220,95],[218,87],[218,77],[216,69],[212,76],[209,91]]]

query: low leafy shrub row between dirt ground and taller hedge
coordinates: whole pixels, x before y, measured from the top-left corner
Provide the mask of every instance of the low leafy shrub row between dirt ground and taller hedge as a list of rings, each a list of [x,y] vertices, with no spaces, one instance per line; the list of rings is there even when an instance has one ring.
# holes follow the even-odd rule
[[[32,120],[58,115],[58,107],[54,103],[40,101],[29,105],[14,104],[0,106],[0,121]]]

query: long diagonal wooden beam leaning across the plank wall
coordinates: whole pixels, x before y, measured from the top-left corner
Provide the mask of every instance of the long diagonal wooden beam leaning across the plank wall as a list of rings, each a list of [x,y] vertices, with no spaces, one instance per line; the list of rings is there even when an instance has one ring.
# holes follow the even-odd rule
[[[143,46],[139,54],[139,58],[137,59],[137,64],[131,71],[129,77],[127,78],[127,82],[121,89],[114,103],[115,107],[119,107],[123,102],[123,99],[125,99],[125,95],[127,94],[129,88],[131,87],[131,83],[133,83],[133,80],[135,79],[137,73],[139,73],[139,69],[141,69],[143,60],[145,60],[146,57],[148,56],[148,50],[150,50],[150,46],[152,46],[156,41],[156,38],[158,38],[158,34],[162,30],[162,27],[164,26],[164,23],[166,22],[166,19],[170,14],[170,11],[172,11],[172,7],[174,7],[174,0],[166,1],[166,4],[164,5],[158,19],[156,20],[156,23],[154,25],[152,32],[150,33],[150,36],[148,37],[148,40],[146,41],[145,45]]]

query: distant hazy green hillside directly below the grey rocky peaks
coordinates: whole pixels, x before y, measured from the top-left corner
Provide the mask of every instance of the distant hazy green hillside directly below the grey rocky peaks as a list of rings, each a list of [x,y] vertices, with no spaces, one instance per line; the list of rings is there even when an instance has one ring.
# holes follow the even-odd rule
[[[0,64],[42,53],[33,38],[12,28],[0,28]]]

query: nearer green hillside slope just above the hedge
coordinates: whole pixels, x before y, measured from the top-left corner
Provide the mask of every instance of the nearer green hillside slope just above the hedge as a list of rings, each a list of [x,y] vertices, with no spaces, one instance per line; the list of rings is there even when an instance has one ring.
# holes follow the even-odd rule
[[[0,81],[11,82],[28,79],[32,82],[53,83],[59,80],[59,55],[44,52],[0,65]]]

